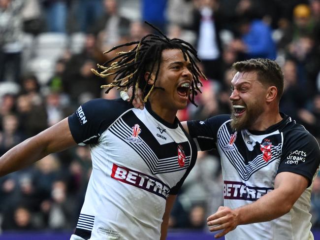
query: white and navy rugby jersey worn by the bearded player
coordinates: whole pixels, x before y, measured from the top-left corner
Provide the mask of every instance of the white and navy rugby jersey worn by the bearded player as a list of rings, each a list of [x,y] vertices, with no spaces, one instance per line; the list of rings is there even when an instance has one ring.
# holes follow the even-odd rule
[[[303,126],[284,114],[282,117],[266,131],[234,132],[229,115],[188,122],[199,150],[217,148],[220,153],[224,206],[253,203],[274,189],[279,172],[294,172],[309,179],[308,188],[287,214],[269,222],[237,226],[226,234],[226,240],[313,239],[309,210],[311,185],[320,164],[319,145]]]

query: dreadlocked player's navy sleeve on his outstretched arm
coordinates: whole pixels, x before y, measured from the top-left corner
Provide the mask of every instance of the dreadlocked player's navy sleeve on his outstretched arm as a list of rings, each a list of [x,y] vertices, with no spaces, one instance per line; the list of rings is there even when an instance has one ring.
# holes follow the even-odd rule
[[[100,135],[133,106],[122,99],[94,99],[82,104],[68,117],[73,139],[78,144],[97,143]]]

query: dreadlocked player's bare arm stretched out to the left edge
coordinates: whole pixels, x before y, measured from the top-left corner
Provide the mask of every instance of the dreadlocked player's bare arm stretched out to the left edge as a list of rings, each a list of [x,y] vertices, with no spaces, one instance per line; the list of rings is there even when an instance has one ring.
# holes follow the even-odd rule
[[[0,157],[0,176],[20,170],[46,155],[76,145],[65,118],[38,135],[28,138]]]

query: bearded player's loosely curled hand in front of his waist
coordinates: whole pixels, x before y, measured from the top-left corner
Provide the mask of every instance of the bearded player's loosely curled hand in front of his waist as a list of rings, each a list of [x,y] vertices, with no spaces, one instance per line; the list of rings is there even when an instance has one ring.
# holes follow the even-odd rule
[[[215,238],[220,238],[238,226],[237,219],[238,214],[233,209],[227,206],[220,206],[215,214],[207,218],[207,224],[210,232],[223,230],[215,235]]]

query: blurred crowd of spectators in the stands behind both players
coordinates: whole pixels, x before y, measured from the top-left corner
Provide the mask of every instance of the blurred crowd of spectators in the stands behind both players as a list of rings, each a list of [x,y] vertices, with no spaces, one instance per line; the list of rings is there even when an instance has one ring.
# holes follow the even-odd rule
[[[181,121],[229,113],[232,63],[276,60],[285,74],[281,111],[320,139],[320,0],[0,0],[0,156],[93,98],[114,99],[91,71],[114,45],[152,33],[190,42],[207,75],[198,107]],[[129,50],[124,46],[123,51]],[[52,154],[0,178],[0,229],[71,230],[91,174],[90,149]],[[178,195],[171,228],[206,229],[223,205],[219,157],[199,152]],[[313,186],[320,227],[320,176]]]

